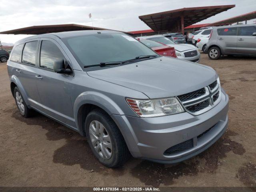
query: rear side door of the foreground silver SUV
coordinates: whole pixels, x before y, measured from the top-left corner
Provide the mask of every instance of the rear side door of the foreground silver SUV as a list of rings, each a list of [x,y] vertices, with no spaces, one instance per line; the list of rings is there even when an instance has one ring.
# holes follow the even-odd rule
[[[19,51],[22,50],[21,59],[17,60],[16,76],[22,84],[22,88],[26,93],[28,104],[35,106],[40,102],[38,90],[36,88],[36,70],[37,70],[37,52],[39,39],[25,41],[24,44],[16,46]],[[24,46],[23,46],[24,45]],[[15,48],[15,50],[16,50]],[[14,50],[14,51],[15,51]],[[13,57],[14,53],[12,54]],[[12,58],[13,59],[13,58]]]

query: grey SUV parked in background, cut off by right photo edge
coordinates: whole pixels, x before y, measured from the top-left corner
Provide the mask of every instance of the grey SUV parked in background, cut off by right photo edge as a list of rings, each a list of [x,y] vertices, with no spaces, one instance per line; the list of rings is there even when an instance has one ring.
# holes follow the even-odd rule
[[[256,56],[256,24],[213,27],[206,51],[212,60],[221,55]]]

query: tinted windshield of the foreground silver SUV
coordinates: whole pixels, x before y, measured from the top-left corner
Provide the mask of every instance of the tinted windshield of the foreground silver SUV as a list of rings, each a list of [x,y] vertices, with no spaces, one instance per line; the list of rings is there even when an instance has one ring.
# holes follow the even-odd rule
[[[123,33],[100,33],[62,39],[83,66],[118,62],[141,55],[158,55],[138,40]]]

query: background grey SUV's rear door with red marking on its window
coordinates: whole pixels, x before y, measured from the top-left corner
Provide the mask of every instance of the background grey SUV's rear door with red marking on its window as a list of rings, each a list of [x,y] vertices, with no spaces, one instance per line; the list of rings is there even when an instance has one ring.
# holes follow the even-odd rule
[[[220,46],[222,54],[236,53],[237,27],[227,27],[217,29],[217,45]]]

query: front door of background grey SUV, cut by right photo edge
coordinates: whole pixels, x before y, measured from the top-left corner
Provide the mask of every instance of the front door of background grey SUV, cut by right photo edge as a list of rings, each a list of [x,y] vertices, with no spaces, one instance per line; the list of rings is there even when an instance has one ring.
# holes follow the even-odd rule
[[[255,32],[255,26],[239,27],[236,45],[237,53],[256,55],[256,36],[252,35]]]

